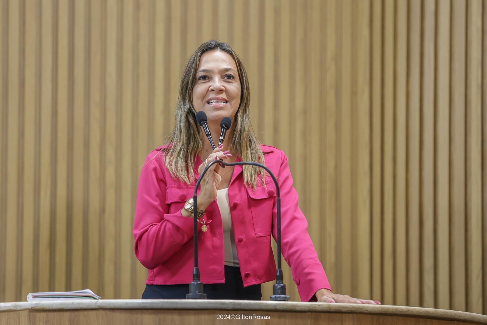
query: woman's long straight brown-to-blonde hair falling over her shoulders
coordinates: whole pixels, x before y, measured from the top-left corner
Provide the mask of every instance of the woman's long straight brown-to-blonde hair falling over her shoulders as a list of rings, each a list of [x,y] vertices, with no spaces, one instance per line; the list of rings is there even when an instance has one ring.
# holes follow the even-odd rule
[[[179,96],[176,104],[175,125],[169,134],[165,150],[161,151],[165,157],[166,166],[173,178],[179,179],[188,185],[194,183],[194,156],[203,148],[199,136],[199,126],[196,122],[196,111],[192,103],[192,91],[196,81],[196,71],[201,56],[210,51],[223,51],[228,53],[235,64],[241,85],[240,105],[233,118],[233,136],[230,139],[232,153],[236,153],[243,161],[253,161],[264,164],[264,155],[259,146],[257,136],[250,123],[250,89],[247,72],[240,57],[227,43],[219,40],[209,40],[200,45],[189,57],[186,68],[181,77]],[[258,175],[263,183],[265,171],[256,166],[244,166],[244,184],[257,187]]]

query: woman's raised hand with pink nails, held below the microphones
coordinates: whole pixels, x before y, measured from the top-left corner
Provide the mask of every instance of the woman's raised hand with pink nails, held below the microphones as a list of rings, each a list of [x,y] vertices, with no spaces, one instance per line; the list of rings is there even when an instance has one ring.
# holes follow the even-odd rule
[[[228,151],[223,151],[223,146],[217,147],[206,158],[206,166],[214,160],[223,160],[224,158],[230,156],[231,154],[229,154]],[[205,162],[203,162],[198,167],[198,173],[200,175],[205,170],[206,166]],[[201,179],[200,194],[198,194],[198,210],[206,210],[206,207],[208,207],[211,202],[216,199],[216,194],[220,188],[221,182],[219,174],[221,168],[222,166],[220,166],[220,164],[212,165]]]

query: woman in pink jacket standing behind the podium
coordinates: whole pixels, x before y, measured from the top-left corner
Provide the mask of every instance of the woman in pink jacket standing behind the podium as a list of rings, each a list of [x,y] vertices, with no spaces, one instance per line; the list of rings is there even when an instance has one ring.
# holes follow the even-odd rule
[[[197,112],[199,120],[197,120]],[[288,158],[259,143],[250,124],[250,88],[244,65],[226,43],[210,40],[184,69],[166,144],[142,168],[133,235],[135,255],[149,276],[142,298],[183,299],[194,267],[193,192],[213,160],[253,161],[267,166],[281,191],[282,255],[292,269],[302,301],[375,304],[332,292],[298,207]],[[221,134],[213,149],[210,134]],[[200,123],[199,123],[200,122]],[[206,123],[205,123],[206,122]],[[214,164],[197,197],[201,281],[209,299],[260,300],[261,284],[276,279],[271,235],[276,238],[276,189],[256,166]]]

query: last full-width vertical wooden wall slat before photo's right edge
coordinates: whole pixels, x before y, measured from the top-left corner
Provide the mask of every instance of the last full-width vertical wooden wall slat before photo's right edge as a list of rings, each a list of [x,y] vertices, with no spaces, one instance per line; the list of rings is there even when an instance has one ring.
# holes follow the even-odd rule
[[[467,310],[482,313],[482,1],[467,11]]]

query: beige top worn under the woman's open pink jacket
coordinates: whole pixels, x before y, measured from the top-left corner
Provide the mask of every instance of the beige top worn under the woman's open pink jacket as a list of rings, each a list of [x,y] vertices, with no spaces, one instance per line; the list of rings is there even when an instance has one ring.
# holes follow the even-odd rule
[[[230,214],[230,201],[228,200],[228,188],[218,190],[216,202],[222,214],[223,237],[225,246],[225,265],[239,267],[239,258],[237,256],[237,246],[233,235],[232,216]]]

